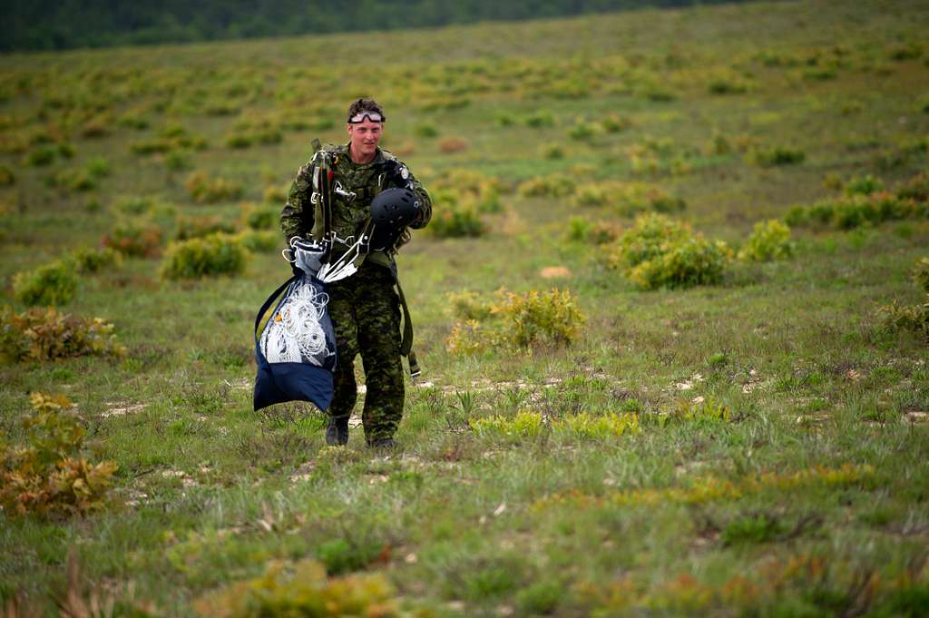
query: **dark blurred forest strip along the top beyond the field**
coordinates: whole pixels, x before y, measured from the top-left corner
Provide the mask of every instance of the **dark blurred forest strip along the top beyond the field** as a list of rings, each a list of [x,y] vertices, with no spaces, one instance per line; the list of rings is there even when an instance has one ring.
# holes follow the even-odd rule
[[[723,2],[726,0],[7,0],[0,20],[0,51],[400,30]]]

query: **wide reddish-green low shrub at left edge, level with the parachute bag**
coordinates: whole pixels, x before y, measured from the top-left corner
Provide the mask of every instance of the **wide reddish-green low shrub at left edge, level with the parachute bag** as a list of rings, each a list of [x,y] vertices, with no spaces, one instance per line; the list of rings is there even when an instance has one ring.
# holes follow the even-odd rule
[[[123,356],[113,326],[99,318],[70,316],[53,307],[0,312],[0,351],[7,360],[51,361],[74,356]]]

